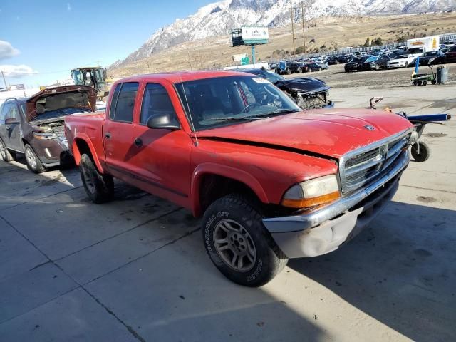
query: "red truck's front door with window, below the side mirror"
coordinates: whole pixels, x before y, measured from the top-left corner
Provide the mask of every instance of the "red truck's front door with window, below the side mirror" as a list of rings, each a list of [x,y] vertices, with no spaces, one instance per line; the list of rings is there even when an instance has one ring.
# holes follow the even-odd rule
[[[148,128],[152,116],[170,115],[179,123],[170,93],[172,85],[147,83],[138,98],[141,108],[135,117],[135,142],[131,165],[144,183],[142,189],[186,205],[190,194],[190,150],[192,140],[184,130]]]

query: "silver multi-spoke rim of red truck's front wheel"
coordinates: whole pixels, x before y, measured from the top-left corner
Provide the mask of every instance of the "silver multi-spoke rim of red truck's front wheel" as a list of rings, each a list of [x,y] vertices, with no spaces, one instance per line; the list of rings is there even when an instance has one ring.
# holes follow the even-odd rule
[[[215,227],[214,245],[224,263],[235,271],[249,271],[257,261],[257,250],[249,232],[231,219],[222,219]]]

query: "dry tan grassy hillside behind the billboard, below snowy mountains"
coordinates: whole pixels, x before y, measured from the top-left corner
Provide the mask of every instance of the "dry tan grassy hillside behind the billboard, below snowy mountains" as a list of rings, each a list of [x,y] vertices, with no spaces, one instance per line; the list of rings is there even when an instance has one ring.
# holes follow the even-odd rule
[[[321,50],[322,46],[332,50],[361,45],[367,37],[381,37],[383,43],[388,43],[397,41],[400,36],[409,38],[456,32],[456,14],[326,17],[306,25],[309,26],[306,28],[307,51],[317,51],[318,48]],[[295,31],[297,48],[303,45],[301,24],[295,25]],[[273,28],[269,32],[271,43],[257,46],[259,61],[270,56],[279,58],[286,55],[287,51],[293,51],[291,25]],[[309,43],[311,40],[315,43]],[[140,73],[219,68],[232,65],[232,55],[236,53],[250,55],[250,47],[232,47],[227,34],[224,37],[206,38],[173,46],[149,58],[110,69],[108,74],[113,78],[120,78]]]

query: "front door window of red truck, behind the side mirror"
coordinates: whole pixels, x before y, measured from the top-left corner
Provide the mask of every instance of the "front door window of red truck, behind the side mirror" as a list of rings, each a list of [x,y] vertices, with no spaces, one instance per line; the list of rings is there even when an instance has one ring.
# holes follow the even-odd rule
[[[142,98],[140,123],[145,124],[149,118],[162,114],[169,114],[176,119],[170,95],[161,84],[147,83]]]

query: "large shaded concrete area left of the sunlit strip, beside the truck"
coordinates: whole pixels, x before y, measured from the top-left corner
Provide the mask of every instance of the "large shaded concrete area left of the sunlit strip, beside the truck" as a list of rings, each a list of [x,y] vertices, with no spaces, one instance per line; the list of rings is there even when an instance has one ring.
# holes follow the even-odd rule
[[[91,204],[77,169],[61,170],[65,183],[15,163],[0,173],[4,341],[328,338],[267,291],[219,274],[187,210],[122,182],[113,202]]]

